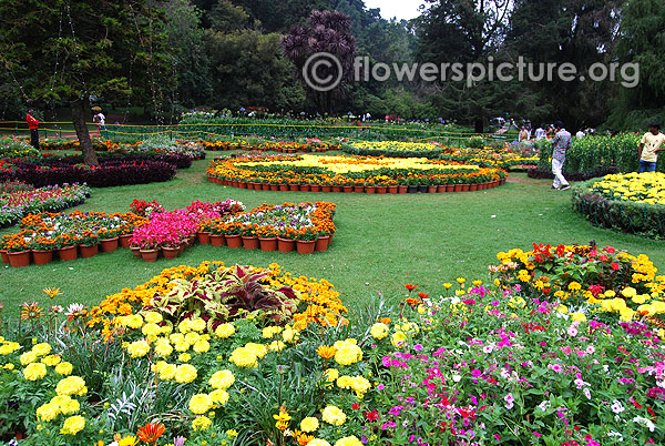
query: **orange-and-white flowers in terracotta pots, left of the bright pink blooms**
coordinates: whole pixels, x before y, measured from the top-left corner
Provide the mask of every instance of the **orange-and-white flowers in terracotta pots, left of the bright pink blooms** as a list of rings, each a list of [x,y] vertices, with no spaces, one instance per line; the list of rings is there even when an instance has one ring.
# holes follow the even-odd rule
[[[3,235],[0,241],[3,263],[12,266],[47,264],[54,253],[63,261],[79,256],[90,257],[117,249],[120,239],[126,240],[134,227],[147,223],[146,219],[127,214],[103,212],[72,212],[29,214],[21,220],[18,233]]]

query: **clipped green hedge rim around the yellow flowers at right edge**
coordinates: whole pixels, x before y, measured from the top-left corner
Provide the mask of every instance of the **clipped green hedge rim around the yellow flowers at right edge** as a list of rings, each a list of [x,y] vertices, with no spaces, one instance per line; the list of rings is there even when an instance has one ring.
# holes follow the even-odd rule
[[[663,173],[656,174],[665,176]],[[611,192],[603,192],[602,181],[592,180],[573,186],[571,200],[576,212],[595,226],[649,239],[665,239],[665,206],[612,199]],[[601,184],[601,187],[596,184]]]

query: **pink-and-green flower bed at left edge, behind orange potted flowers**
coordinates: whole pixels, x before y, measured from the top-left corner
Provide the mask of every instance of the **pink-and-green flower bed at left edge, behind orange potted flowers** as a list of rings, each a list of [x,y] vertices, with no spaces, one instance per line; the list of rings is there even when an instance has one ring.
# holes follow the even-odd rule
[[[0,183],[0,227],[11,226],[27,214],[78,206],[88,196],[85,184],[34,189],[25,183]]]

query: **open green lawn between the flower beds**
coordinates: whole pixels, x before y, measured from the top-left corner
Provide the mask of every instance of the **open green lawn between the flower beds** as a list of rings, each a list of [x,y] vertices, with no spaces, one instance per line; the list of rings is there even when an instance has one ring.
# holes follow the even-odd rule
[[[214,153],[211,153],[212,158]],[[74,262],[54,262],[24,268],[0,267],[0,302],[6,315],[16,316],[24,301],[38,300],[41,290],[60,287],[64,293],[53,303],[99,303],[123,287],[146,282],[163,268],[205,260],[227,264],[267,266],[279,263],[296,275],[325,277],[335,284],[342,301],[355,307],[380,291],[386,296],[405,292],[405,283],[426,292],[458,276],[488,278],[495,254],[511,247],[528,250],[533,242],[613,245],[633,254],[647,254],[665,268],[665,242],[652,241],[592,226],[571,210],[570,192],[550,190],[546,180],[534,181],[512,174],[520,182],[480,192],[454,194],[323,194],[258,192],[208,183],[207,161],[197,161],[168,183],[95,189],[81,211],[127,212],[133,199],[157,200],[166,209],[184,207],[192,200],[241,200],[248,207],[285,201],[337,203],[338,232],[328,252],[314,255],[263,253],[228,247],[192,246],[173,261],[144,263],[129,250],[100,254]],[[17,227],[0,231],[0,235]]]

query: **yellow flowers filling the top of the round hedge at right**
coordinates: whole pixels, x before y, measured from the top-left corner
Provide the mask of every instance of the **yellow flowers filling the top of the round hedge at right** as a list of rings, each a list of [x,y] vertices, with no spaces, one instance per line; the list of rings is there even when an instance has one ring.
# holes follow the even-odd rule
[[[610,200],[665,205],[665,173],[625,173],[607,175],[593,183],[591,191]]]

